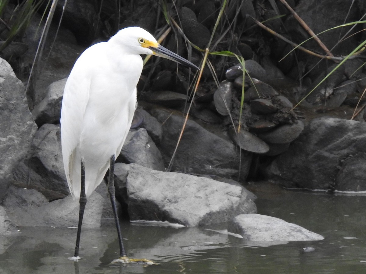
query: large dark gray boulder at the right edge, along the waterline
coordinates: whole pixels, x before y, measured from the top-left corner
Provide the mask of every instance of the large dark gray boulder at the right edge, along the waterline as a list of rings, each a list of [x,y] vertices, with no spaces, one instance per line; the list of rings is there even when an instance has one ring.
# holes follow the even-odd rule
[[[365,122],[316,118],[266,174],[285,187],[366,190],[365,143]]]

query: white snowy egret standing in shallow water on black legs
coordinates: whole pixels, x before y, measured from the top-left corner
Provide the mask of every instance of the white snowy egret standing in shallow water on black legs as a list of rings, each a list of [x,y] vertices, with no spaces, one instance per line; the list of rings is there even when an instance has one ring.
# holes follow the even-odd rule
[[[140,27],[120,30],[108,42],[97,43],[76,60],[67,79],[61,107],[61,145],[68,187],[79,199],[79,243],[86,198],[109,168],[108,193],[115,217],[120,259],[128,262],[116,210],[113,168],[136,109],[136,85],[142,72],[140,54],[153,54],[198,69],[158,44]]]

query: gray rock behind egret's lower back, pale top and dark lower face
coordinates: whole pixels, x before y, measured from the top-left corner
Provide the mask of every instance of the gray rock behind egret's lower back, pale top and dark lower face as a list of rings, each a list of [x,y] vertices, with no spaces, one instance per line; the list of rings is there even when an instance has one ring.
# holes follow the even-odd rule
[[[69,194],[61,152],[60,127],[44,124],[37,131],[32,150],[13,171],[15,184],[37,189],[50,200]]]

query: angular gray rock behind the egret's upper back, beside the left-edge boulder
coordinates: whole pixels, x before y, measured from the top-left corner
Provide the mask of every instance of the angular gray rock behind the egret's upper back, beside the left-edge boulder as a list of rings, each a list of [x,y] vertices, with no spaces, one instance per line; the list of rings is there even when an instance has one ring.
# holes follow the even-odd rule
[[[38,126],[44,123],[60,123],[61,102],[67,78],[53,82],[46,90],[45,98],[34,107],[32,114]]]

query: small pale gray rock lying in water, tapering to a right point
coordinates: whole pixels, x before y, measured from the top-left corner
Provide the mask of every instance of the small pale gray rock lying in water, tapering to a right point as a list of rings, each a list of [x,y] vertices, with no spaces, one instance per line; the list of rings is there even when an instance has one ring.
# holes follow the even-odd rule
[[[288,241],[319,241],[324,237],[296,224],[261,214],[241,214],[234,218],[229,232],[249,241],[283,244]]]

